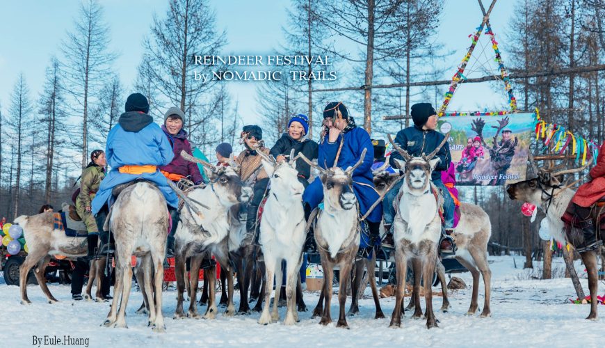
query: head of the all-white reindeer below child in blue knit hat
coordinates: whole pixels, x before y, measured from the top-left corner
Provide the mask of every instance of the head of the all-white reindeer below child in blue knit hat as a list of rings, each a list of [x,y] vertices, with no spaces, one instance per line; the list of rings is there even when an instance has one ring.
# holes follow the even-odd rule
[[[294,150],[290,152],[290,160],[277,163],[273,156],[265,155],[264,152],[258,151],[262,157],[261,163],[265,171],[271,179],[271,194],[275,195],[280,202],[289,202],[297,200],[299,203],[302,200],[302,191],[305,187],[298,181],[298,171],[296,170],[296,159]]]

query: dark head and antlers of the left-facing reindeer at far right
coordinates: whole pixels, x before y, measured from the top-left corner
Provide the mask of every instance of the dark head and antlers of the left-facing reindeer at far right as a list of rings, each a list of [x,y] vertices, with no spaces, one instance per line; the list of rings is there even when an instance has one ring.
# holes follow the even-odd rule
[[[506,187],[506,192],[508,193],[508,197],[512,200],[529,202],[538,206],[542,205],[542,203],[545,203],[545,201],[550,198],[549,195],[553,193],[554,189],[561,188],[563,185],[563,175],[579,173],[588,166],[587,162],[585,166],[579,168],[556,171],[560,166],[565,166],[565,162],[563,162],[563,164],[560,164],[559,166],[551,165],[545,168],[538,168],[538,166],[535,165],[535,160],[531,153],[529,154],[529,163],[531,164],[533,172],[538,176],[533,179],[510,184]],[[547,194],[543,195],[542,193]]]

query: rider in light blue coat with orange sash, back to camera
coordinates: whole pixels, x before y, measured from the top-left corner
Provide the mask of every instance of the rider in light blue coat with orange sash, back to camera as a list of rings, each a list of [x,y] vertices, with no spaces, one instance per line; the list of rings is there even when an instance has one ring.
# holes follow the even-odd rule
[[[111,171],[92,200],[92,214],[95,215],[99,231],[103,230],[108,207],[115,199],[111,191],[119,184],[140,177],[154,183],[170,207],[176,209],[179,203],[176,193],[168,186],[166,177],[158,168],[172,161],[172,146],[160,126],[147,114],[147,98],[140,93],[129,95],[124,111],[118,119],[118,125],[107,136],[105,154]],[[101,241],[105,245],[108,242]],[[104,247],[101,246],[101,249],[103,251]]]

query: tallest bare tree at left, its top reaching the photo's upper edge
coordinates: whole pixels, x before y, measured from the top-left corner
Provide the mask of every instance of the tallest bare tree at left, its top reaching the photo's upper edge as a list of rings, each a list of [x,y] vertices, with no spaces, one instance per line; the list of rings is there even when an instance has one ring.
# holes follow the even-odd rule
[[[74,112],[82,117],[82,168],[88,163],[88,113],[92,96],[109,72],[115,54],[108,52],[109,29],[103,21],[102,7],[96,0],[81,4],[74,29],[63,42],[62,66],[66,84],[73,97]]]

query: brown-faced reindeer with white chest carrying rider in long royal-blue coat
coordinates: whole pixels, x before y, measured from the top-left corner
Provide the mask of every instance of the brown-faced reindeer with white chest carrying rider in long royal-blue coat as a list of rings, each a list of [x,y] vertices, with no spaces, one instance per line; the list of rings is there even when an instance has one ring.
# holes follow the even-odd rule
[[[315,223],[315,241],[319,248],[321,257],[321,267],[324,272],[322,295],[325,300],[323,306],[323,315],[319,324],[328,325],[332,322],[330,315],[330,301],[332,300],[332,278],[334,276],[334,266],[340,267],[340,280],[338,290],[339,301],[339,319],[337,327],[348,328],[345,316],[346,287],[350,278],[350,271],[355,261],[355,255],[360,247],[359,230],[359,207],[357,198],[353,193],[353,171],[360,166],[366,149],[363,150],[360,160],[347,168],[345,171],[335,165],[332,168],[324,169],[321,166],[309,161],[305,155],[300,154],[307,164],[316,168],[320,173],[321,183],[323,184],[323,210],[318,212]],[[354,295],[355,296],[355,295]],[[322,303],[320,300],[314,310],[316,313],[322,312]]]

